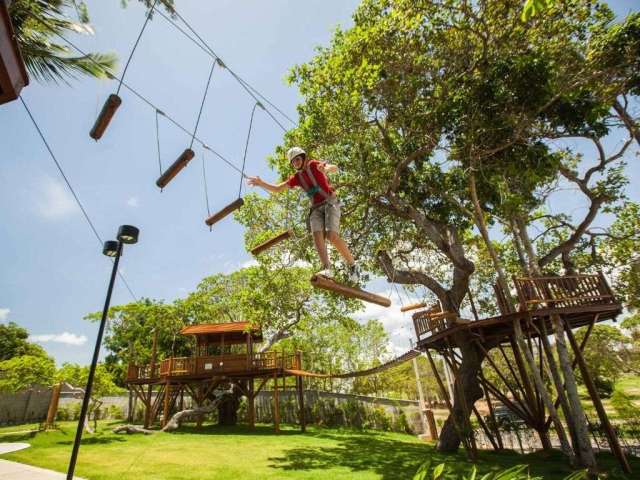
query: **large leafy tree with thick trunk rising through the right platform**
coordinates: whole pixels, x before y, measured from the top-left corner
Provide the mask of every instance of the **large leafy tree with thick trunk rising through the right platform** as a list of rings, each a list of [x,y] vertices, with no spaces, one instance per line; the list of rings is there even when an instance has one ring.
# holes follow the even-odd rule
[[[598,212],[623,198],[619,161],[631,142],[600,147],[617,125],[633,134],[635,119],[620,101],[637,93],[638,16],[616,26],[605,5],[576,1],[523,23],[521,6],[367,0],[354,26],[291,77],[304,103],[300,127],[272,159],[282,177],[292,144],[338,163],[346,235],[359,256],[389,281],[426,287],[447,310],[460,310],[472,259],[484,253],[509,296],[492,225],[513,234],[520,272],[558,263],[569,270]],[[588,139],[595,158],[551,145],[569,136]],[[528,228],[560,179],[590,207],[564,219],[568,235],[534,245]],[[302,221],[300,210],[294,215]],[[454,420],[482,394],[483,353],[471,340],[455,339],[464,396],[445,424],[442,450],[457,447]]]

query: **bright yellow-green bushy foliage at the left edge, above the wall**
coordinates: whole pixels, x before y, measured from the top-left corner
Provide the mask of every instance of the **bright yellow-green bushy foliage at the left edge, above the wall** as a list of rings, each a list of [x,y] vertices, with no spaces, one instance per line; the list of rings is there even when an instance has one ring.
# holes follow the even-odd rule
[[[0,362],[0,392],[18,392],[33,385],[51,385],[55,363],[47,356],[21,355]]]

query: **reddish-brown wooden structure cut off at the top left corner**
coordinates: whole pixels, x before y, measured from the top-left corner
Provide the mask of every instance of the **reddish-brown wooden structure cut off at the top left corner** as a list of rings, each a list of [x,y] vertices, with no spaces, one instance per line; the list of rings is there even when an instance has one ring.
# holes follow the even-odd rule
[[[16,39],[8,3],[0,0],[0,105],[20,96],[29,76]]]

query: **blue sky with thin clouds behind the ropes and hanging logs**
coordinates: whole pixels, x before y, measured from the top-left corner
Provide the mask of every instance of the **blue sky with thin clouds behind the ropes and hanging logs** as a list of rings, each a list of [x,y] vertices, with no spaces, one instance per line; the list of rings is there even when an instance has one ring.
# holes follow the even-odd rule
[[[112,51],[121,66],[144,20],[131,0],[89,0],[95,36],[76,39],[91,51]],[[291,66],[309,60],[326,45],[336,25],[348,25],[356,0],[176,0],[180,12],[222,59],[290,116],[300,97],[284,77]],[[635,0],[612,2],[618,14],[637,9]],[[162,110],[192,129],[211,60],[162,18],[149,25],[126,81]],[[231,271],[251,260],[241,227],[227,218],[213,232],[204,225],[202,149],[197,158],[160,193],[155,116],[129,92],[105,137],[95,143],[88,132],[111,81],[81,79],[71,87],[32,83],[23,93],[71,183],[104,239],[121,224],[141,229],[140,243],[128,247],[122,270],[138,297],[168,301],[183,296],[207,275]],[[216,70],[198,136],[241,163],[253,100],[223,70]],[[0,321],[26,327],[60,363],[87,363],[95,325],[82,317],[104,302],[111,264],[60,178],[22,105],[0,107]],[[189,145],[189,138],[161,119],[161,150],[166,167]],[[282,131],[263,112],[256,113],[247,171],[273,178],[265,157],[280,143]],[[617,141],[613,139],[612,141]],[[633,168],[640,179],[637,160]],[[212,210],[237,195],[239,176],[207,154]],[[636,183],[637,184],[637,183]],[[567,197],[566,206],[580,208]],[[571,202],[575,202],[572,205]],[[132,298],[119,282],[113,303]],[[377,315],[369,308],[368,315]],[[408,318],[397,309],[385,324],[406,342]],[[403,332],[399,333],[402,328]]]

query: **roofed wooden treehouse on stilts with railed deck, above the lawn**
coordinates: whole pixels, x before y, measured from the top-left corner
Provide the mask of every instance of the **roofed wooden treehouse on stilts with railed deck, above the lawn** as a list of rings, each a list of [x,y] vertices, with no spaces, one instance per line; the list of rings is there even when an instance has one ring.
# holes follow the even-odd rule
[[[218,390],[229,386],[247,397],[249,423],[253,426],[255,398],[271,381],[274,425],[278,431],[278,392],[289,388],[287,378],[290,377],[295,377],[299,409],[304,411],[301,352],[256,352],[254,346],[262,342],[262,331],[249,322],[190,325],[180,334],[193,338],[192,356],[158,361],[156,336],[150,363],[129,364],[126,383],[145,406],[145,427],[151,426],[160,414],[164,426],[172,412],[183,410],[185,396],[191,398],[194,406],[201,407],[215,399]],[[300,424],[304,430],[302,413]]]

